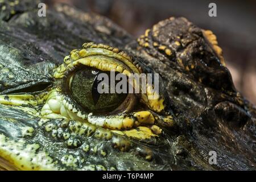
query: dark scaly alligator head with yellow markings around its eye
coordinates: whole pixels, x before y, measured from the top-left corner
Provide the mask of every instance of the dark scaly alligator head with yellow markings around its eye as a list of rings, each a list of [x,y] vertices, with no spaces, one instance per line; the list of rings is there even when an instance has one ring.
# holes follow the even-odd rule
[[[256,109],[212,31],[171,17],[136,40],[68,5],[40,17],[38,3],[0,1],[0,169],[256,169]],[[96,92],[113,70],[159,75],[159,92]]]

